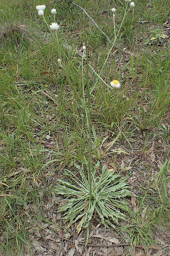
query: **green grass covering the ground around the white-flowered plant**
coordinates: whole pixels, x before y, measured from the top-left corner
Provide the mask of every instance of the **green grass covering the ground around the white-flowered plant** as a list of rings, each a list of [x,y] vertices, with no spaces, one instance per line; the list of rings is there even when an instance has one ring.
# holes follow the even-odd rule
[[[73,46],[64,49],[71,60],[64,58],[64,73],[57,65],[57,46],[37,16],[35,6],[40,3],[29,2],[28,6],[23,0],[9,1],[8,5],[2,1],[0,7],[0,251],[4,255],[24,255],[32,243],[31,226],[53,222],[43,205],[52,200],[56,179],[64,179],[68,175],[66,169],[75,172],[74,163],[81,164],[89,151],[85,111],[71,87],[82,97],[82,59],[74,47],[80,49],[85,41],[83,15],[70,4],[55,5],[57,22],[61,24],[60,44]],[[118,79],[122,87],[108,90],[98,81],[91,96],[93,163],[112,163],[116,172],[134,180],[137,210],[132,209],[126,225],[117,229],[123,229],[131,244],[143,245],[146,251],[148,244],[156,243],[156,229],[169,229],[168,39],[163,43],[148,41],[153,30],[164,30],[169,1],[163,2],[136,3],[122,26],[116,43],[118,51],[113,49],[102,72],[105,82]],[[48,0],[43,3],[48,5],[50,23],[49,10],[54,4]],[[116,6],[119,29],[122,5],[103,0],[76,3],[85,7],[113,40],[111,12],[102,12]],[[110,46],[88,18],[85,23],[89,61],[99,73]],[[135,55],[119,50],[124,47]],[[91,88],[95,81],[96,76],[90,71]],[[108,149],[106,143],[112,140]],[[154,161],[150,160],[152,151]],[[139,161],[132,162],[131,169],[126,168],[134,156]],[[30,206],[36,207],[29,209]]]

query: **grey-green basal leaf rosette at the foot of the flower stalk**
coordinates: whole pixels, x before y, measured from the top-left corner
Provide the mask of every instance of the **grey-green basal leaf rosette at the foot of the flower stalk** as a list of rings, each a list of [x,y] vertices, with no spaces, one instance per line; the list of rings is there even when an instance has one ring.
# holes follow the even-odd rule
[[[102,166],[100,176],[96,175],[95,170],[99,167],[97,162],[92,172],[93,198],[90,199],[89,183],[83,172],[83,164],[82,167],[76,164],[76,167],[79,169],[80,178],[72,178],[74,184],[59,180],[60,184],[56,188],[56,193],[64,197],[59,211],[63,212],[63,219],[68,221],[68,227],[80,220],[77,231],[88,228],[94,212],[97,212],[106,227],[114,227],[113,223],[118,224],[119,219],[124,220],[125,215],[120,210],[128,212],[130,210],[122,199],[131,195],[126,177],[108,172],[106,166]]]

